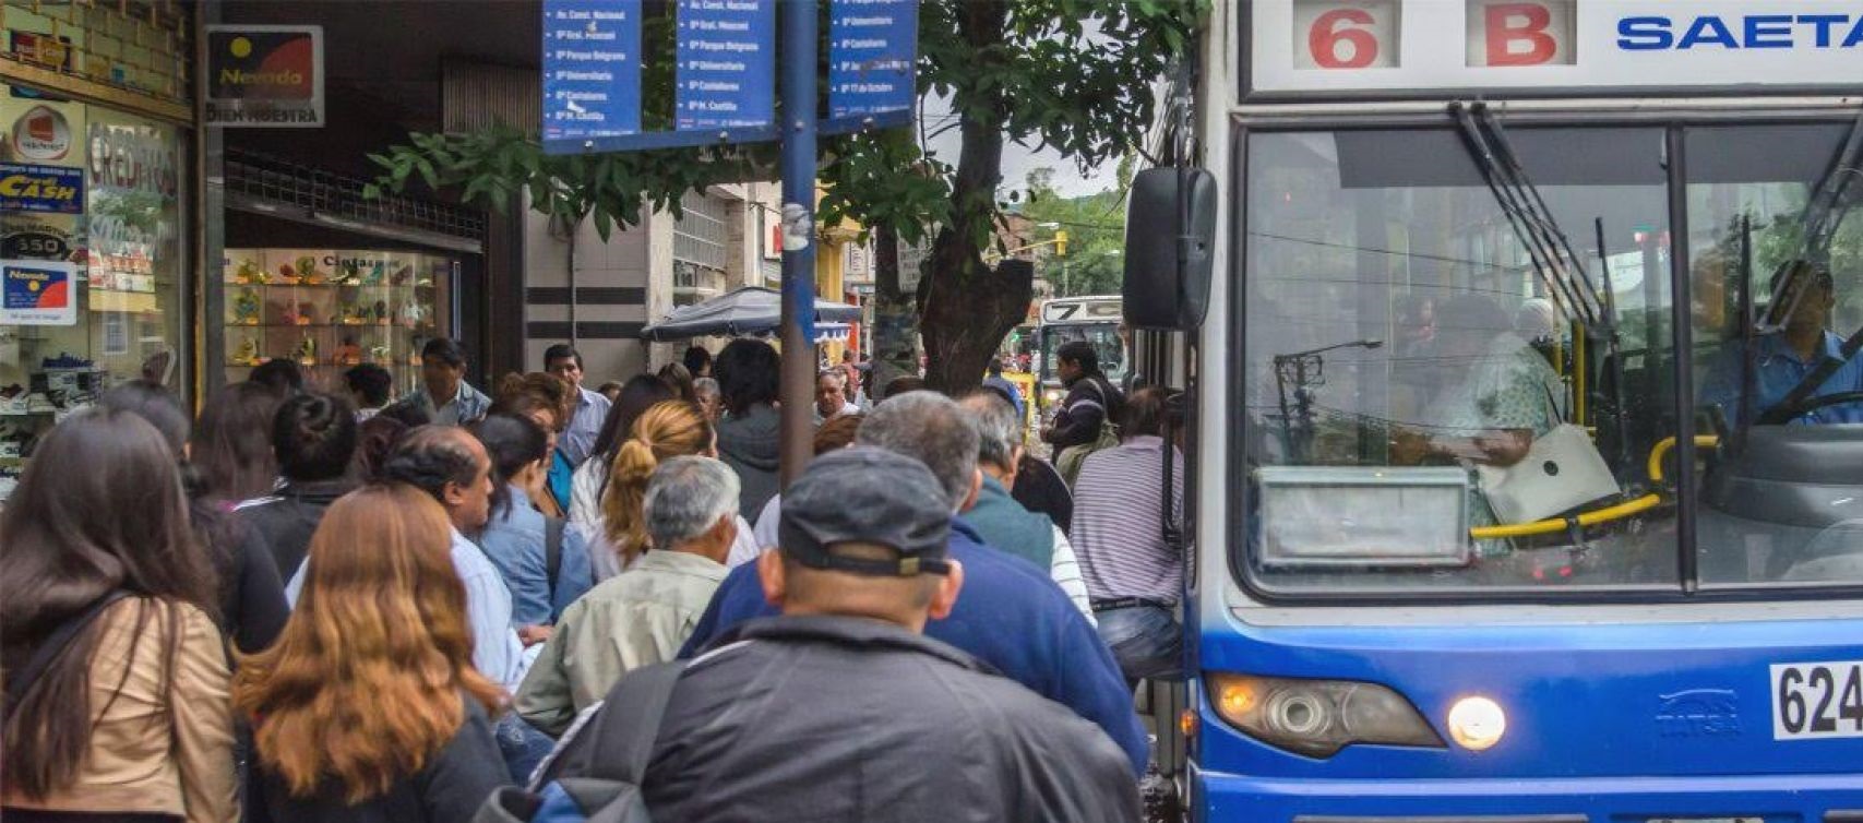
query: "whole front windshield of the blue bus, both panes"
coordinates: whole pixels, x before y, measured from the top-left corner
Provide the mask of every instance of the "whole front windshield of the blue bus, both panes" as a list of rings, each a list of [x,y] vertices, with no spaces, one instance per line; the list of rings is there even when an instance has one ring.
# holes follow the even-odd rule
[[[1690,266],[1669,261],[1667,127],[1509,130],[1498,149],[1524,182],[1511,190],[1457,128],[1252,132],[1239,361],[1250,583],[1300,594],[1863,579],[1863,564],[1829,562],[1833,546],[1863,551],[1863,426],[1848,425],[1863,402],[1826,397],[1788,421],[1828,423],[1813,434],[1738,434],[1736,419],[1770,406],[1742,406],[1742,391],[1781,395],[1775,384],[1815,361],[1768,359],[1783,341],[1783,320],[1766,324],[1775,270],[1816,257],[1800,266],[1813,294],[1800,311],[1833,330],[1811,335],[1818,352],[1841,356],[1863,324],[1863,222],[1839,214],[1822,253],[1802,242],[1846,132],[1688,128]],[[1742,311],[1753,333],[1740,333]],[[1677,317],[1692,352],[1675,348]],[[1759,380],[1729,372],[1747,350]],[[1677,397],[1684,358],[1692,398]],[[1863,380],[1863,365],[1833,380]],[[1679,413],[1695,421],[1701,458],[1688,490],[1675,488]],[[1736,439],[1753,447],[1736,452]],[[1803,469],[1751,456],[1779,452],[1850,454],[1848,488],[1805,469],[1803,488],[1744,505]],[[1679,564],[1682,493],[1701,501],[1686,547],[1697,572]],[[1803,570],[1813,559],[1822,572]]]

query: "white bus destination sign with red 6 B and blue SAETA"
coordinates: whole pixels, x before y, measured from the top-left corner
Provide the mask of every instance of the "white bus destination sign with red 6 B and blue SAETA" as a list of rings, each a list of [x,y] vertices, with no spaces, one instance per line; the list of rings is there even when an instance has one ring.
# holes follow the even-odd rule
[[[1863,0],[1254,0],[1244,93],[1863,89]]]

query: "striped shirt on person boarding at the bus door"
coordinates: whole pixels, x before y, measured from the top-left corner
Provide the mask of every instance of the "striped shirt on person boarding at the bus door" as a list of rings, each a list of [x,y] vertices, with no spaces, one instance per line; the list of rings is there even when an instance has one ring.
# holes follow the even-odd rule
[[[1086,458],[1073,486],[1073,551],[1094,600],[1176,603],[1183,555],[1159,523],[1163,438],[1131,438]],[[1172,449],[1172,512],[1183,518],[1183,452]]]

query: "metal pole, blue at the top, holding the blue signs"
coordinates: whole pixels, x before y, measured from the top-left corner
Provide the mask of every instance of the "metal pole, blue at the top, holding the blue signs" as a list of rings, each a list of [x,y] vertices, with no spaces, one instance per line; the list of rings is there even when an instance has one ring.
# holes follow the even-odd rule
[[[782,484],[814,456],[816,0],[781,0]]]

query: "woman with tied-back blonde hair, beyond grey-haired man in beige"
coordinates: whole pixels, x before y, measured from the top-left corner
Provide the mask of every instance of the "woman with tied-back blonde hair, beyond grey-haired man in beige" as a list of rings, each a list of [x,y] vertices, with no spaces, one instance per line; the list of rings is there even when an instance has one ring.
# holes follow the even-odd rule
[[[598,581],[620,573],[646,551],[646,525],[641,512],[646,479],[661,460],[682,456],[717,456],[717,432],[699,406],[665,400],[633,421],[628,439],[615,451],[615,462],[607,469],[607,488],[602,492],[600,538],[607,542],[607,551],[589,551]],[[756,551],[751,525],[738,518],[738,542],[730,547],[727,566],[749,562],[756,559]]]

